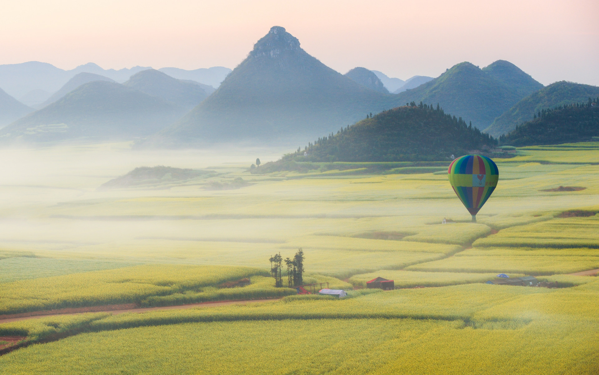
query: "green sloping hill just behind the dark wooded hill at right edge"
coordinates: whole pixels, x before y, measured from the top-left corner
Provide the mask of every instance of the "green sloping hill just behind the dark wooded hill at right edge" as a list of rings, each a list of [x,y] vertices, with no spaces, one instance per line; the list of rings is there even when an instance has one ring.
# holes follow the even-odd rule
[[[552,83],[530,94],[507,110],[485,129],[493,136],[509,133],[516,125],[533,120],[534,114],[543,108],[554,108],[571,103],[585,102],[589,97],[599,96],[599,87],[566,81]]]

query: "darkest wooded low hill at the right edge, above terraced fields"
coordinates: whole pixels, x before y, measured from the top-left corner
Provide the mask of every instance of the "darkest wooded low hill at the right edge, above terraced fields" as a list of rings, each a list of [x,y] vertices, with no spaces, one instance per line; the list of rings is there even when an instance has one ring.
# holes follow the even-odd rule
[[[500,136],[500,143],[531,146],[591,141],[599,136],[599,97],[582,104],[543,109],[534,117],[507,136]]]

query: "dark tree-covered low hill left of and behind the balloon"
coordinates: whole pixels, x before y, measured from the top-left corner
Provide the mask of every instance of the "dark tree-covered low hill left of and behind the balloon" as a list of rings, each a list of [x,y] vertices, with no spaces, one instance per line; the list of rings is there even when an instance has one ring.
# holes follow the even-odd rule
[[[415,161],[449,160],[470,150],[494,147],[497,141],[462,118],[432,105],[410,103],[359,121],[320,138],[283,160]],[[307,156],[304,156],[304,152]]]

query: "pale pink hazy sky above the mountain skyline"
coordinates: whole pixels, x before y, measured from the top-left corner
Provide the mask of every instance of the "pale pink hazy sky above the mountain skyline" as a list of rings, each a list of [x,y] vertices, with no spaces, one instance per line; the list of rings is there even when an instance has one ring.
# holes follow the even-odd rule
[[[345,73],[403,80],[509,60],[543,84],[599,85],[599,1],[0,0],[0,64],[234,68],[271,26]]]

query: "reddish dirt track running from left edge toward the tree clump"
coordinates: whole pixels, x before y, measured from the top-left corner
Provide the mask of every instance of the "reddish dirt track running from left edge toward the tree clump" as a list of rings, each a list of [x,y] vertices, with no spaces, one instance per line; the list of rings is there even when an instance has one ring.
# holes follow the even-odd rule
[[[92,307],[76,307],[70,309],[58,309],[58,310],[46,310],[31,313],[13,314],[13,315],[0,315],[0,324],[8,322],[23,321],[26,319],[43,318],[44,316],[58,316],[58,315],[73,315],[83,314],[87,312],[111,312],[113,314],[122,313],[143,313],[154,310],[173,310],[173,309],[191,309],[192,307],[216,307],[225,306],[228,304],[248,304],[254,302],[264,302],[278,300],[280,298],[262,298],[259,300],[225,300],[225,301],[208,301],[198,302],[189,304],[180,304],[175,306],[159,306],[159,307],[138,307],[137,304],[113,304],[104,306],[92,306]]]

